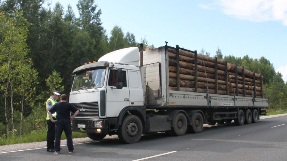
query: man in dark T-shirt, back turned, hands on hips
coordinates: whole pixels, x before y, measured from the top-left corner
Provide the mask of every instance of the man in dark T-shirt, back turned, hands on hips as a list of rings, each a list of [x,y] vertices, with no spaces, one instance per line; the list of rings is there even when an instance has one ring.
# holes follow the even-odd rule
[[[60,143],[61,143],[61,135],[63,131],[65,132],[67,138],[67,146],[69,149],[69,153],[74,153],[73,139],[72,139],[72,125],[74,117],[77,116],[79,110],[74,107],[74,105],[70,104],[67,101],[67,95],[62,94],[60,97],[60,102],[53,105],[53,107],[48,111],[48,115],[50,120],[55,123],[56,122],[56,130],[55,130],[55,152],[54,154],[60,154]],[[73,112],[74,115],[71,117],[70,112]],[[52,113],[57,112],[57,120],[53,119]]]

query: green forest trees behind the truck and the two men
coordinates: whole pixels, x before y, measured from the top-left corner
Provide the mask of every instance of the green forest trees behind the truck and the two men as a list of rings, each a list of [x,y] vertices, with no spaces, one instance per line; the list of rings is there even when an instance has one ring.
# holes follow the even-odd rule
[[[45,0],[0,1],[0,139],[45,131],[45,101],[53,90],[69,94],[76,67],[139,43],[154,47],[146,38],[136,42],[133,33],[117,25],[107,34],[94,0],[78,1],[79,17],[71,6],[64,11],[60,3],[44,4]],[[223,57],[219,47],[215,50],[215,57],[261,73],[269,108],[286,110],[287,85],[268,59]],[[200,54],[211,56],[204,49]]]

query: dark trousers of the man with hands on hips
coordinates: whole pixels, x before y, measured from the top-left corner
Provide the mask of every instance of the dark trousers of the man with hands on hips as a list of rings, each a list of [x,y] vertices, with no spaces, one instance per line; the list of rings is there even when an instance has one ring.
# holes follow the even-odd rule
[[[72,139],[72,125],[70,119],[57,119],[56,122],[56,139],[55,139],[55,151],[60,152],[61,135],[65,132],[67,138],[67,146],[69,151],[74,150]]]

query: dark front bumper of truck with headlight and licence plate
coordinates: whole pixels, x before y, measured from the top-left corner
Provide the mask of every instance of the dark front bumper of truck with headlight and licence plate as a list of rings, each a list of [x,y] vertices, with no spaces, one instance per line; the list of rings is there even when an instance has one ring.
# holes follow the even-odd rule
[[[85,133],[107,134],[109,131],[108,119],[74,119],[72,130]]]

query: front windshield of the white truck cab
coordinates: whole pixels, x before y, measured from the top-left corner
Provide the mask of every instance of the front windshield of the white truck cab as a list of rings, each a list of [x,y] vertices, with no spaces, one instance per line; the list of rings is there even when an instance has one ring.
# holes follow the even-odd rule
[[[104,86],[106,69],[85,70],[75,75],[72,91]]]

